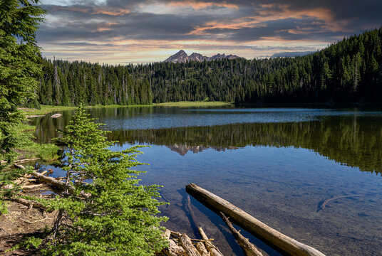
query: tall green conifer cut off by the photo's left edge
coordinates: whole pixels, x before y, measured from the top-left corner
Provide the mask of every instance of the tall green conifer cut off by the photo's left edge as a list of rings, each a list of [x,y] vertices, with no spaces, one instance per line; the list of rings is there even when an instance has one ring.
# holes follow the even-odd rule
[[[13,149],[26,141],[26,135],[14,129],[26,121],[24,112],[16,107],[32,100],[38,85],[41,55],[35,36],[43,14],[39,6],[26,0],[0,2],[0,160],[8,163],[17,156]]]

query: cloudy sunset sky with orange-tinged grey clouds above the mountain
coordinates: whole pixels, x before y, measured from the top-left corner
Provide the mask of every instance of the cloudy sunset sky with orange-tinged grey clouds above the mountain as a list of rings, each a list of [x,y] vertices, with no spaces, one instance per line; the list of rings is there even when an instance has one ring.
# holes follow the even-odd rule
[[[41,0],[46,58],[152,63],[178,50],[269,58],[382,26],[381,0]]]

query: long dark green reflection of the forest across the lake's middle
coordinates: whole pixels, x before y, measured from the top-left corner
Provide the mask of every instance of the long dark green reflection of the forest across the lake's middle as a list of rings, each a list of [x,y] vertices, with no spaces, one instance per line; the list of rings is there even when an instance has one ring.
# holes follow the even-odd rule
[[[121,130],[108,135],[125,142],[158,144],[184,155],[187,151],[252,146],[294,146],[328,159],[382,173],[381,122],[372,117],[326,117],[294,123],[228,124],[214,127]]]

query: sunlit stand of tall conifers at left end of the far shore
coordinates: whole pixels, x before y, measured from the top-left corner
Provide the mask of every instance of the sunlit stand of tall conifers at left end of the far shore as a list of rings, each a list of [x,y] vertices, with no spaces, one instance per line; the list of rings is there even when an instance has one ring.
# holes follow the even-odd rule
[[[63,60],[43,60],[37,91],[44,105],[148,105],[153,102],[146,75],[128,67]]]

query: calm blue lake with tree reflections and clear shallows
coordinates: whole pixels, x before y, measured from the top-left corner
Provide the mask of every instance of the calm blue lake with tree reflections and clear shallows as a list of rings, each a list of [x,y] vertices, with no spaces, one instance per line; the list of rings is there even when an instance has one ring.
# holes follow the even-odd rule
[[[326,255],[381,255],[382,112],[359,109],[89,109],[113,150],[142,148],[143,184],[162,185],[167,228],[194,235],[185,186],[196,183]],[[39,142],[73,112],[33,119]],[[51,168],[51,166],[48,166]],[[56,176],[63,171],[55,169]],[[344,197],[346,196],[346,197]],[[336,199],[336,197],[339,197]],[[331,201],[326,201],[334,198]],[[224,255],[243,255],[218,215],[191,198]],[[279,255],[242,231],[269,255]]]

